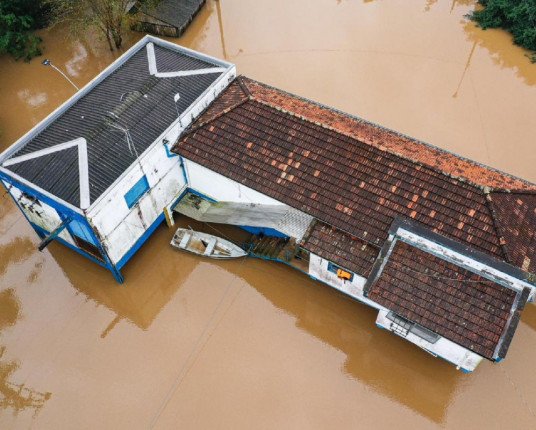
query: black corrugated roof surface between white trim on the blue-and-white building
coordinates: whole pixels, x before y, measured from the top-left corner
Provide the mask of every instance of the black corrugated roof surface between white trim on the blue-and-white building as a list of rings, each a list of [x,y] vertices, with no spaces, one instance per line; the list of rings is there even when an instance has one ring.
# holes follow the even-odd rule
[[[221,67],[157,44],[154,51],[159,73]],[[84,137],[93,202],[132,165],[136,154],[142,154],[177,119],[177,110],[184,112],[220,75],[156,77],[149,73],[143,46],[11,158]],[[175,106],[177,93],[180,100]],[[135,148],[129,147],[125,133],[109,125],[110,118],[129,130]],[[76,148],[7,168],[68,203],[80,205]]]

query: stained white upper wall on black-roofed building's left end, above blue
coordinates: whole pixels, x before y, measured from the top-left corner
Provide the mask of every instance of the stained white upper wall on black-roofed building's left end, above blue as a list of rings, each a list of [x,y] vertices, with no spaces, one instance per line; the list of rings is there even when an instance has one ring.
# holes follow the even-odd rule
[[[6,189],[9,189],[11,196],[17,200],[24,214],[35,225],[41,227],[45,231],[51,232],[63,222],[56,209],[52,206],[47,205],[41,200],[38,200],[38,203],[32,204],[33,201],[23,196],[22,191],[19,188],[15,186],[9,188],[9,184],[4,181],[2,182]],[[31,209],[29,209],[30,207]],[[58,236],[71,245],[76,246],[67,230],[63,230]]]

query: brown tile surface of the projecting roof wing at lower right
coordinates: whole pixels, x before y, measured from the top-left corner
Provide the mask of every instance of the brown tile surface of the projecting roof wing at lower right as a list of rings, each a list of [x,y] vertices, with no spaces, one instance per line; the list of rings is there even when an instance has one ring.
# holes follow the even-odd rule
[[[497,356],[503,335],[509,332],[508,340],[513,336],[511,323],[517,324],[517,318],[509,319],[515,312],[516,291],[400,240],[366,294],[488,359]]]

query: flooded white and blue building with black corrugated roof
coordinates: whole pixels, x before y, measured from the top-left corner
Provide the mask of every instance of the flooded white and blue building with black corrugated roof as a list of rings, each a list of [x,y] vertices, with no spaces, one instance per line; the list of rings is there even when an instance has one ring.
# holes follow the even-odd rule
[[[43,239],[112,271],[185,188],[170,145],[235,76],[232,64],[144,37],[0,156],[0,179]]]

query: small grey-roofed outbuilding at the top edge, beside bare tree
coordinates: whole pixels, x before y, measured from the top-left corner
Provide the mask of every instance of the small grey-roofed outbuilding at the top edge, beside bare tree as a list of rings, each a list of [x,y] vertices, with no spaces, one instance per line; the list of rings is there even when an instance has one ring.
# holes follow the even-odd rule
[[[180,37],[201,10],[206,0],[161,0],[154,6],[143,2],[133,7],[137,12],[132,29],[158,36]]]

